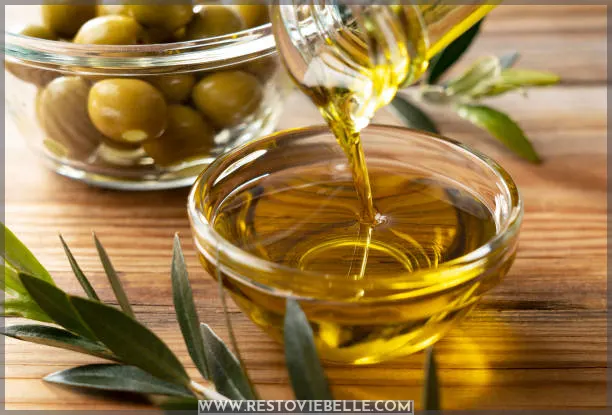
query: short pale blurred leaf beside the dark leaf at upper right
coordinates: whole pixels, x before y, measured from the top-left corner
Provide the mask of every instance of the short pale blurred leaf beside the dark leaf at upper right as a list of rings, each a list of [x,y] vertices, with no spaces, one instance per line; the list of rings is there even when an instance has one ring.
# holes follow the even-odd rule
[[[461,76],[451,80],[446,87],[446,92],[450,96],[477,95],[498,82],[500,74],[499,58],[486,56],[478,59]]]

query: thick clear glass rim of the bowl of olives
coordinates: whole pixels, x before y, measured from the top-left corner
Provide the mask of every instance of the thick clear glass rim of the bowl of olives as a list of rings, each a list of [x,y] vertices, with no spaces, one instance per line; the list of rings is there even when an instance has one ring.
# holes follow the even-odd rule
[[[4,32],[5,58],[46,69],[88,73],[213,70],[273,55],[272,25],[196,41],[152,45],[79,45]]]

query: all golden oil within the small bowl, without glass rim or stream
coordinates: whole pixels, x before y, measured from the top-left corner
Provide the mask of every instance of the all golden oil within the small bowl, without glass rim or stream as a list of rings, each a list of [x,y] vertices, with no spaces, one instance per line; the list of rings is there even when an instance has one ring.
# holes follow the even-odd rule
[[[485,244],[496,230],[486,206],[451,182],[383,162],[369,167],[378,212],[373,226],[361,221],[351,169],[337,161],[263,176],[227,196],[213,220],[233,245],[275,264],[313,271],[310,279],[284,281],[282,269],[256,277],[257,285],[272,288],[283,281],[278,292],[225,278],[242,310],[280,340],[287,287],[298,296],[325,299],[301,301],[319,353],[351,364],[420,350],[465,314],[487,285],[396,299],[370,290],[373,281],[394,274],[410,280],[423,274],[410,272],[417,269],[430,270],[428,278],[435,279],[436,267]],[[321,284],[326,274],[340,280]],[[352,298],[338,289],[342,278],[356,288]]]

